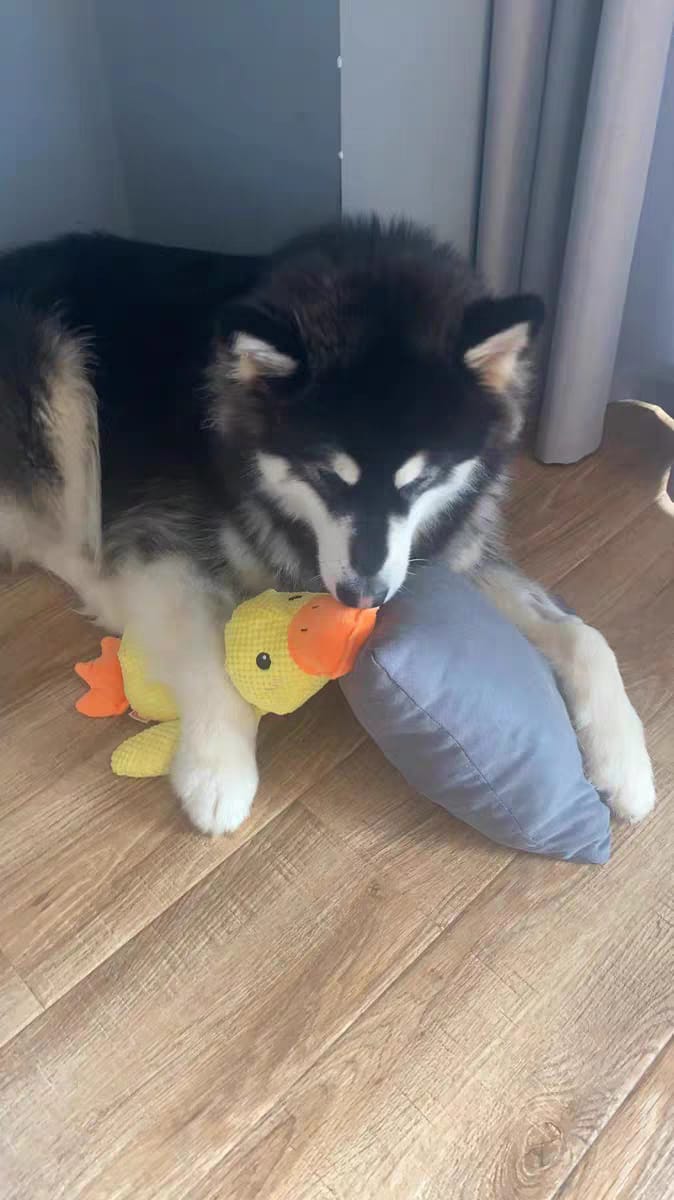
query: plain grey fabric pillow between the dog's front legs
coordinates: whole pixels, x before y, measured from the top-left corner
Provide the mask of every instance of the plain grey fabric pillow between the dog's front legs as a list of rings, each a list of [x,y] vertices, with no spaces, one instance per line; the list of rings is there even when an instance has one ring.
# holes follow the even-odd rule
[[[420,571],[341,683],[389,761],[455,817],[514,850],[607,862],[609,812],[549,666],[465,580]]]

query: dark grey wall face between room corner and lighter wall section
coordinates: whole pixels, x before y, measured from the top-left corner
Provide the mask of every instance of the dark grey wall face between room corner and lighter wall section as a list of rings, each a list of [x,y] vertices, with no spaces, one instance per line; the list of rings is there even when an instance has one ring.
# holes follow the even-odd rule
[[[264,251],[339,211],[337,0],[98,0],[134,233]]]

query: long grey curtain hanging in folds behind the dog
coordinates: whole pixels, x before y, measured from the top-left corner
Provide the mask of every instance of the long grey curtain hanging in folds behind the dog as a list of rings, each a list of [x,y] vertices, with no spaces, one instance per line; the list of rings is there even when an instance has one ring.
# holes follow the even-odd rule
[[[475,254],[547,302],[544,462],[601,442],[673,23],[674,0],[494,0]]]

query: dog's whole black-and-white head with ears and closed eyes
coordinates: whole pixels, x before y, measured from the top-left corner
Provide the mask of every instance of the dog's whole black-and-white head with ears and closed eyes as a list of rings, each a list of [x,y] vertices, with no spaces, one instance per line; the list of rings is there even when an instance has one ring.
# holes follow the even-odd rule
[[[389,600],[415,541],[469,509],[522,425],[535,296],[492,300],[407,227],[345,223],[290,247],[224,317],[213,424],[317,542],[345,604]]]

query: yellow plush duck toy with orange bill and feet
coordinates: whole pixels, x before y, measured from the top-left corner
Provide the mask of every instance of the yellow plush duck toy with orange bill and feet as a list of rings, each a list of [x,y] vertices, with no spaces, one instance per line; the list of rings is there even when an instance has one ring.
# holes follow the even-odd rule
[[[240,604],[224,626],[223,668],[258,719],[293,713],[329,679],[351,670],[375,619],[375,608],[347,608],[323,593],[263,592]],[[132,632],[104,637],[101,655],[74,670],[89,684],[78,712],[113,716],[131,708],[138,720],[158,722],[116,748],[115,775],[167,775],[180,716],[169,689],[149,677]]]

